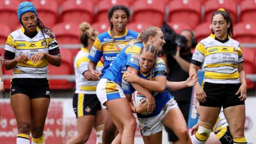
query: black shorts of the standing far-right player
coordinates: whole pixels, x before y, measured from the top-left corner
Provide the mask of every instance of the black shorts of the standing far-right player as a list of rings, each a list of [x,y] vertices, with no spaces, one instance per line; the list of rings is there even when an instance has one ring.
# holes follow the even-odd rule
[[[238,97],[240,93],[235,94],[239,87],[238,84],[214,84],[204,83],[204,92],[206,94],[206,102],[200,102],[200,106],[205,107],[223,107],[223,109],[231,106],[244,105]]]

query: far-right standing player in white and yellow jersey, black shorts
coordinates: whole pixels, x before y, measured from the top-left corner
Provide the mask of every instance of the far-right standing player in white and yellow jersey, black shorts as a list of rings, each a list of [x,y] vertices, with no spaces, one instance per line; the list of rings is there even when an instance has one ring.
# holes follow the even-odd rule
[[[239,42],[233,38],[230,14],[219,9],[212,14],[212,34],[199,42],[192,57],[189,75],[196,75],[204,63],[203,87],[195,85],[199,101],[199,127],[193,143],[205,143],[221,107],[234,143],[247,143],[244,135],[246,79]]]

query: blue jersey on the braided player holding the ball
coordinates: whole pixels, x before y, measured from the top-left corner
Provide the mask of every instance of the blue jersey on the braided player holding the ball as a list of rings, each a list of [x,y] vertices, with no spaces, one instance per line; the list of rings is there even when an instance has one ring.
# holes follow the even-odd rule
[[[161,58],[157,58],[153,68],[151,69],[151,71],[149,71],[148,74],[143,74],[141,71],[139,71],[138,76],[141,78],[147,79],[149,81],[155,81],[155,78],[157,76],[167,76],[164,60]],[[130,88],[130,89],[127,90],[125,88]],[[129,86],[127,86],[127,83],[124,83],[124,81],[122,81],[122,89],[125,91],[126,94],[131,94],[134,91],[132,85],[129,84]],[[165,91],[163,93],[152,92],[152,91],[150,92],[155,98],[156,108],[153,111],[153,113],[149,115],[137,114],[138,118],[147,118],[147,117],[153,117],[158,115],[162,111],[166,103],[173,98],[173,96],[167,90],[167,87],[165,88]]]

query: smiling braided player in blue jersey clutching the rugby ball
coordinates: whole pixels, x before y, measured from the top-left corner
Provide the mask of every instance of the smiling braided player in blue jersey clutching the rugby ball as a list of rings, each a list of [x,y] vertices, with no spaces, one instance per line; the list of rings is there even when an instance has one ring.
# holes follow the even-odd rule
[[[137,83],[147,90],[150,90],[156,103],[153,113],[145,115],[140,114],[136,107],[131,105],[134,113],[137,113],[139,119],[139,127],[144,143],[162,143],[163,124],[172,129],[177,134],[181,143],[191,143],[188,135],[186,121],[178,107],[174,97],[169,93],[167,88],[171,90],[183,89],[187,86],[193,86],[197,82],[197,78],[190,76],[187,81],[183,82],[167,82],[166,69],[163,59],[156,58],[157,52],[154,46],[142,47],[139,57],[139,74],[134,72],[123,72],[123,87],[125,93],[131,94],[133,87],[129,83]],[[129,89],[127,89],[127,87]]]

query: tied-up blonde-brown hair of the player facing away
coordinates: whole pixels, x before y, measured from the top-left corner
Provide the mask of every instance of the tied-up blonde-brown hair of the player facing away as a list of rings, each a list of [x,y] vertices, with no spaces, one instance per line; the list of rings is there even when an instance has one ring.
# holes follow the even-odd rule
[[[80,34],[80,41],[81,43],[87,47],[88,46],[88,39],[91,38],[93,41],[95,41],[95,30],[90,26],[87,22],[82,22],[79,25],[79,29],[81,30]]]

